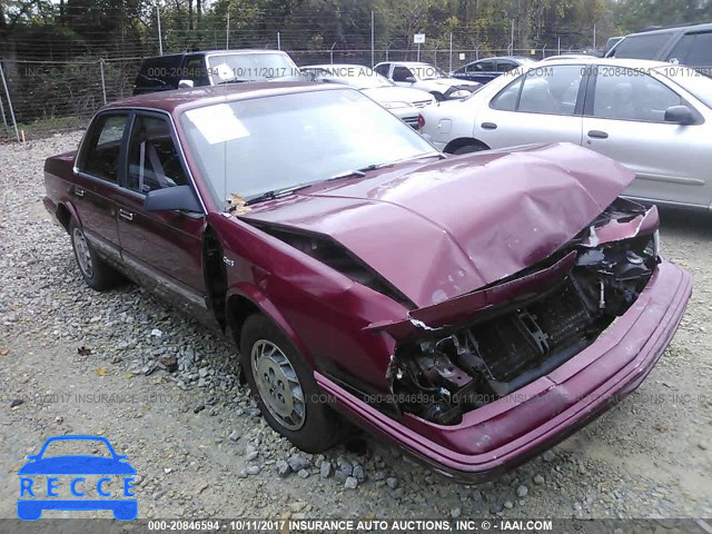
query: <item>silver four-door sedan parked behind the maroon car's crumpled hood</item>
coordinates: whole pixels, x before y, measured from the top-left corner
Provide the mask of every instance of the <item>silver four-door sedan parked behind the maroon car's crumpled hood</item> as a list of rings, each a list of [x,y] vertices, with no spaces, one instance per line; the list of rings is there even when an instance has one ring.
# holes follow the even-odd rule
[[[712,208],[712,79],[630,59],[573,58],[517,69],[422,112],[445,152],[567,141],[631,168],[626,196]]]

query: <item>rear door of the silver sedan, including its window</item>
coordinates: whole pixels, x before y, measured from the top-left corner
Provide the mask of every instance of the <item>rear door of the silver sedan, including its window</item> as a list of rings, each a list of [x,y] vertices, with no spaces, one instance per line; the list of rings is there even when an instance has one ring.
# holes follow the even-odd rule
[[[490,148],[561,141],[581,145],[578,100],[584,75],[583,66],[566,65],[520,76],[478,109],[473,137]]]

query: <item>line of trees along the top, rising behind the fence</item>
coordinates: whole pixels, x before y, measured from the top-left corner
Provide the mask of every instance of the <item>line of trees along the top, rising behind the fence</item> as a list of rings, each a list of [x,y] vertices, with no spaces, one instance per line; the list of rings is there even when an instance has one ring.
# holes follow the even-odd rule
[[[158,11],[158,12],[157,12]],[[0,0],[1,56],[71,60],[238,47],[285,50],[602,48],[649,26],[712,20],[712,0]],[[229,27],[229,30],[228,30]]]

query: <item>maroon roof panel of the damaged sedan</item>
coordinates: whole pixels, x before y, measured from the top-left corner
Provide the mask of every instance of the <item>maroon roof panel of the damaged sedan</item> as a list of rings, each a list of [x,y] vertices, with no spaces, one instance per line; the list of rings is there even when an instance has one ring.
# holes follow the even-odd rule
[[[148,92],[146,95],[117,100],[101,109],[142,108],[175,113],[184,109],[199,108],[211,103],[326,90],[349,91],[354,89],[345,86],[306,83],[303,81],[256,81]]]

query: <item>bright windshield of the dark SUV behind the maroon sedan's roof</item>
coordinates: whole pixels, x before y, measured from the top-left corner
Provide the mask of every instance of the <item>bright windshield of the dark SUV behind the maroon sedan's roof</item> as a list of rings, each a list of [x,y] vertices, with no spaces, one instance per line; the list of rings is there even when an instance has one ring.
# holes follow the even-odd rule
[[[238,81],[265,81],[295,76],[299,69],[284,52],[220,53],[208,56],[212,85]]]

